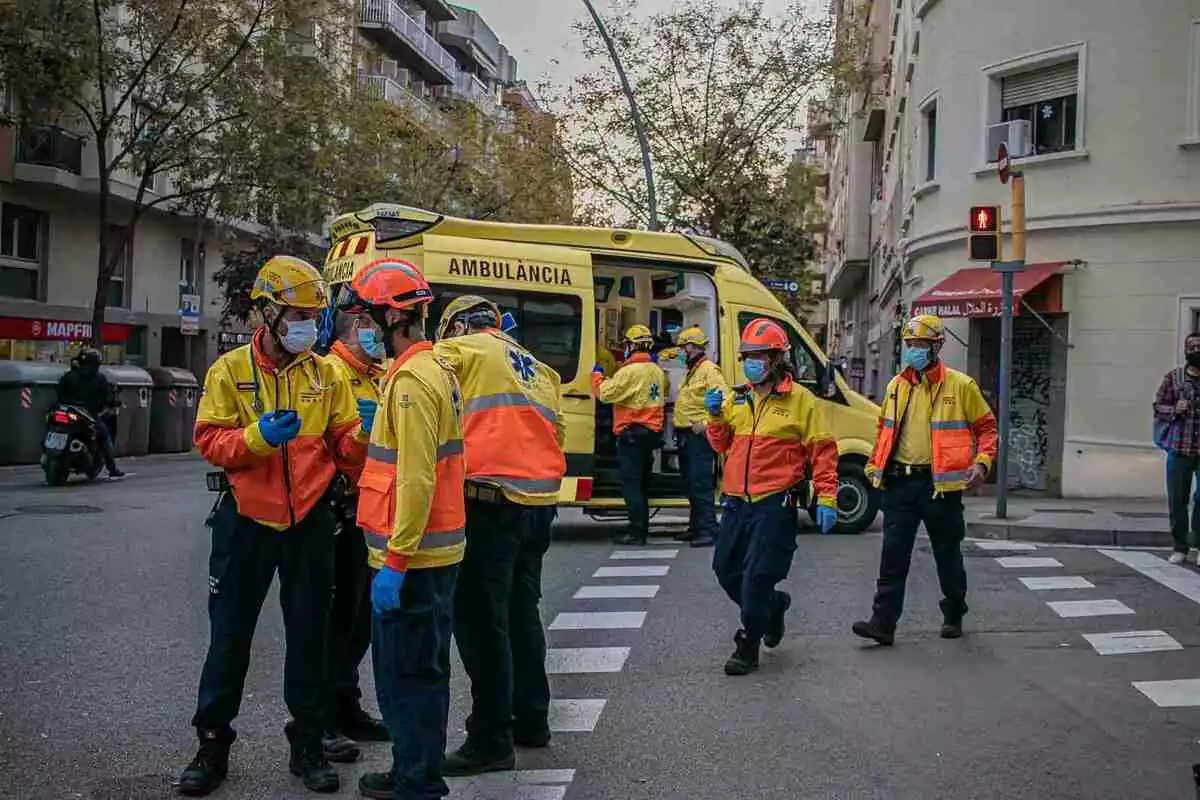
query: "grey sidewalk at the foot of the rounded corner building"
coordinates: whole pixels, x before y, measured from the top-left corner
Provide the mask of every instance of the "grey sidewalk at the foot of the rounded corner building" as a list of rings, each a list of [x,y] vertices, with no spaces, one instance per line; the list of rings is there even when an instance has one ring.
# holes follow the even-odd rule
[[[1109,547],[1170,547],[1166,500],[1063,499],[1009,494],[1008,515],[996,518],[994,495],[965,499],[967,536]]]

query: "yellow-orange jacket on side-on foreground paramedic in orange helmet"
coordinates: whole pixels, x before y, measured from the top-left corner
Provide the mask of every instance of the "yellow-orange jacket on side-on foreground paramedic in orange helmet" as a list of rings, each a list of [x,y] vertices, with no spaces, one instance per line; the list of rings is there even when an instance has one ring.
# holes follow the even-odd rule
[[[371,566],[422,570],[461,561],[463,480],[458,381],[433,345],[419,342],[388,371],[359,479],[358,524]]]

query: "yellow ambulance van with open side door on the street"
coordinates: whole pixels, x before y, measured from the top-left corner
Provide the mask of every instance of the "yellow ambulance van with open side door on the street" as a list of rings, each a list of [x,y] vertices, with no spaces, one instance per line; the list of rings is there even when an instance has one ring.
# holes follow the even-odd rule
[[[335,293],[362,264],[396,257],[421,267],[433,287],[431,329],[463,294],[488,297],[512,315],[521,343],[563,378],[569,433],[560,504],[596,517],[624,511],[612,409],[590,389],[593,365],[612,363],[601,350],[619,354],[622,335],[635,323],[649,325],[664,347],[671,331],[700,325],[709,357],[736,385],[745,381],[737,360],[742,329],[756,317],[775,319],[788,331],[800,383],[823,401],[838,439],[839,530],[859,533],[875,519],[878,494],[863,468],[878,407],[846,384],[732,246],[680,233],[481,222],[392,204],[337,217],[330,240],[324,273]],[[673,399],[685,367],[668,360],[660,366]],[[670,408],[666,416],[648,493],[654,507],[684,507]]]

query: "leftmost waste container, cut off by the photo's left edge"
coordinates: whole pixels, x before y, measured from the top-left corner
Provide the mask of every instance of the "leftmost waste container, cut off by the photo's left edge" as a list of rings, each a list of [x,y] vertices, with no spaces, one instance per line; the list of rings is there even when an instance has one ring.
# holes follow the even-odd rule
[[[0,360],[0,464],[41,461],[46,415],[66,373],[65,363]]]

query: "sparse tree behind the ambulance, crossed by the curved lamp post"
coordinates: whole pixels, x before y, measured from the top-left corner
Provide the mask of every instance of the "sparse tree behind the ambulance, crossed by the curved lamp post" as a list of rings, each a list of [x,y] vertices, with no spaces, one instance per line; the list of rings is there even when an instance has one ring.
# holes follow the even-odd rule
[[[776,18],[762,0],[682,0],[642,18],[623,0],[606,23],[644,119],[661,222],[728,241],[760,276],[808,288],[815,194],[804,168],[790,166],[790,139],[815,95],[863,79],[854,43],[800,2]],[[644,225],[629,104],[595,28],[580,22],[576,34],[593,68],[545,91],[564,120],[582,213]]]

